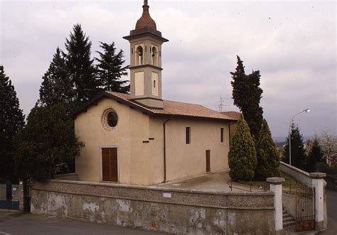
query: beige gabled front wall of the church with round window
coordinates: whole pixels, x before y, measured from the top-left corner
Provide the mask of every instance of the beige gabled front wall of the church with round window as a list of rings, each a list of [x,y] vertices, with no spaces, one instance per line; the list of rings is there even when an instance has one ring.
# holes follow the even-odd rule
[[[102,114],[112,108],[117,112],[118,123],[107,131],[102,126]],[[149,116],[112,99],[102,99],[96,106],[75,119],[75,134],[85,143],[76,158],[78,180],[102,181],[102,147],[116,147],[119,182],[124,184],[149,184]]]

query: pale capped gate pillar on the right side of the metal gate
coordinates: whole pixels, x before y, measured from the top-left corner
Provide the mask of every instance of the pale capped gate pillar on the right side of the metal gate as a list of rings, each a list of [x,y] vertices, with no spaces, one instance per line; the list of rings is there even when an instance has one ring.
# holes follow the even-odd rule
[[[312,187],[315,188],[315,222],[316,230],[325,230],[324,224],[324,177],[326,173],[310,173]]]

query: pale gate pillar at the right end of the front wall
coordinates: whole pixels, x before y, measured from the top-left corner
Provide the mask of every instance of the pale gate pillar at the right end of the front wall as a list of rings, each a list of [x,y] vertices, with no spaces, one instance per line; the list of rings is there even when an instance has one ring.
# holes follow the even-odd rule
[[[270,184],[270,191],[274,192],[275,207],[275,231],[283,230],[283,208],[282,208],[282,177],[269,177],[267,182]]]

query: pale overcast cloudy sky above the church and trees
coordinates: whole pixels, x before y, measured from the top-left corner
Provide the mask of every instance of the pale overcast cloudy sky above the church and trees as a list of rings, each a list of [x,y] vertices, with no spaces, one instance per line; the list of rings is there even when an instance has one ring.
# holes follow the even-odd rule
[[[41,77],[73,25],[92,41],[124,50],[141,16],[134,1],[0,0],[0,65],[24,114],[38,99]],[[163,98],[238,111],[230,72],[239,55],[246,74],[260,70],[261,106],[273,136],[287,136],[296,116],[304,136],[323,128],[336,135],[336,1],[153,1],[150,15],[169,39],[162,48]]]

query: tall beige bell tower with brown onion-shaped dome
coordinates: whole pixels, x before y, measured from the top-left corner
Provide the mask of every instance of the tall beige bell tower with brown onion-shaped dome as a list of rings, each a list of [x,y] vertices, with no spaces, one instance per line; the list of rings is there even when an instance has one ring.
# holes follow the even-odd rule
[[[161,97],[161,45],[168,42],[156,30],[156,22],[149,14],[144,0],[143,14],[130,35],[123,37],[130,43],[130,93],[139,104],[163,109]]]

